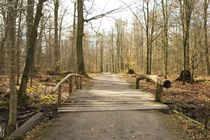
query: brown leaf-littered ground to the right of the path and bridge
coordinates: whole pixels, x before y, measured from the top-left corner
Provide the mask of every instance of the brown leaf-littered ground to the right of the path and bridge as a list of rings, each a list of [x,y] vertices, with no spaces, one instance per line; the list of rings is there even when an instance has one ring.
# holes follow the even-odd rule
[[[135,84],[135,77],[123,75],[129,82]],[[180,125],[194,139],[206,139],[210,136],[210,77],[196,78],[195,83],[183,85],[180,81],[175,81],[175,77],[169,77],[172,81],[172,87],[164,89],[163,102],[169,104],[173,109],[183,113],[189,118],[192,118],[201,124],[208,120],[207,129],[192,125],[188,121],[180,120],[174,115]],[[141,81],[141,88],[146,91],[155,93],[155,85],[150,82]],[[208,136],[207,136],[208,135]],[[207,138],[208,139],[208,138]]]

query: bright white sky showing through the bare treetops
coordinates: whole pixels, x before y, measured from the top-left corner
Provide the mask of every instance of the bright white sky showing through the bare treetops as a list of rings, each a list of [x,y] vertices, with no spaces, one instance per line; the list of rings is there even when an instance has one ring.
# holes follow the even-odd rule
[[[69,10],[69,15],[66,16],[65,23],[72,22],[72,17],[73,17],[73,3],[71,0],[62,0],[63,7],[68,7]],[[92,1],[92,0],[89,0]],[[133,0],[126,0],[126,4],[131,4]],[[85,2],[86,7],[90,7],[92,2]],[[121,2],[121,0],[95,0],[94,1],[94,6],[91,10],[92,14],[88,15],[87,18],[100,15],[101,13],[105,13],[107,11],[120,8],[116,12],[109,14],[106,17],[91,21],[91,24],[86,25],[86,30],[91,31],[93,27],[94,31],[99,31],[99,32],[108,32],[111,30],[112,27],[114,27],[115,19],[122,19],[129,22],[132,22],[132,13],[131,11],[127,8],[125,9],[126,5]],[[84,14],[86,16],[86,14]]]

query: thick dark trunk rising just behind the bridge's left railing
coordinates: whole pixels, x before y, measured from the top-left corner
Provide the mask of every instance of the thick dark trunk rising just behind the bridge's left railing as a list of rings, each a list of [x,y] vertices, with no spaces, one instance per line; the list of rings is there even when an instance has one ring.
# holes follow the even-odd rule
[[[79,74],[86,75],[84,56],[83,56],[83,34],[84,34],[83,0],[77,1],[77,8],[78,8],[78,23],[77,23],[78,27],[77,27],[77,42],[76,42],[77,67]]]

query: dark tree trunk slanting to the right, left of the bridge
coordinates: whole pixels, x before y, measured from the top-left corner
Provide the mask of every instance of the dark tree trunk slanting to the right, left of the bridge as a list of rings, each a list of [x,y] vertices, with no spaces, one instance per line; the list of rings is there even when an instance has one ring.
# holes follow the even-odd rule
[[[31,0],[28,0],[31,1]],[[32,0],[33,1],[33,0]],[[31,23],[31,29],[29,29],[29,39],[27,42],[27,54],[26,54],[26,62],[25,62],[25,67],[21,79],[21,85],[19,89],[19,94],[20,97],[23,99],[22,104],[27,104],[26,100],[26,89],[27,89],[27,83],[29,80],[29,74],[33,68],[34,65],[34,55],[35,55],[35,46],[36,46],[36,41],[37,41],[37,30],[39,26],[39,21],[42,17],[42,8],[43,8],[43,3],[46,0],[39,0],[37,4],[37,9],[36,9],[36,15],[34,21]],[[32,11],[30,11],[32,12]]]

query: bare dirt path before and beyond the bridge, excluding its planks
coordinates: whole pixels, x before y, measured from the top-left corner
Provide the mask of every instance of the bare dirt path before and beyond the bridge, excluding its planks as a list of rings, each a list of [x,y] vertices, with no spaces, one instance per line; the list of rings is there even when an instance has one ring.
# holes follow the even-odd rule
[[[116,75],[95,77],[103,84],[94,84],[91,90],[127,90],[127,83],[116,87]],[[178,140],[186,139],[169,117],[153,110],[143,111],[89,111],[60,113],[47,124],[37,140]]]

